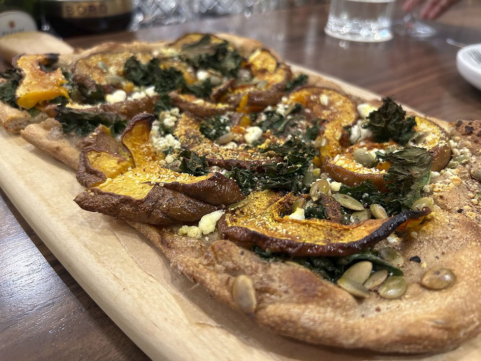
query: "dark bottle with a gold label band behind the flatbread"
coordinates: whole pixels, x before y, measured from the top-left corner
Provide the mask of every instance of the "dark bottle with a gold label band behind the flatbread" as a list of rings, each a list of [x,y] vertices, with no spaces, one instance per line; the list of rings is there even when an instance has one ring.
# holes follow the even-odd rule
[[[132,0],[40,0],[43,20],[62,37],[126,30]]]

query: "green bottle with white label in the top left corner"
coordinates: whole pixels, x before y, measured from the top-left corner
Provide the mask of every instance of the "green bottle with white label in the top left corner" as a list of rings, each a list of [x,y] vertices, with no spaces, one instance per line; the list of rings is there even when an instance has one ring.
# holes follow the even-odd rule
[[[38,0],[0,0],[0,37],[38,30]]]

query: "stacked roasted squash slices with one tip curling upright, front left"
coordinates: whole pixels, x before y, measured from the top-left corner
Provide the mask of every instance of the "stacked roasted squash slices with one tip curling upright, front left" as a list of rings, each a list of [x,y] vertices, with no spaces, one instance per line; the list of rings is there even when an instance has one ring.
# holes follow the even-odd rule
[[[112,175],[119,173],[114,178],[107,177],[106,167],[115,163],[115,159],[120,160],[118,155],[125,152],[119,150],[112,155],[119,144],[101,139],[105,132],[97,141],[87,142],[83,162],[88,165],[90,174],[98,171],[105,181],[93,183],[94,187],[77,195],[75,201],[82,209],[163,225],[195,222],[205,214],[244,198],[237,183],[220,173],[196,177],[162,167],[149,142],[153,121],[152,114],[138,114],[129,123],[121,142],[130,153],[130,158],[125,159],[129,159],[133,167],[129,166],[129,161],[120,161],[115,172],[111,172]],[[102,147],[104,149],[100,149]],[[95,151],[90,158],[89,149]]]

